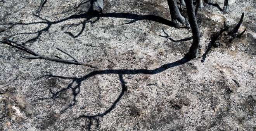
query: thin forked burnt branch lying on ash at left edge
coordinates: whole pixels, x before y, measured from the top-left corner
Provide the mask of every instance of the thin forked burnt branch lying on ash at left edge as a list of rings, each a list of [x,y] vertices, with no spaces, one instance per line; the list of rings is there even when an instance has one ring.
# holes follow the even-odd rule
[[[92,64],[87,64],[85,62],[79,61],[78,59],[76,59],[72,55],[68,54],[67,52],[65,52],[64,50],[61,50],[59,48],[57,48],[57,49],[60,50],[61,52],[65,53],[65,54],[69,55],[69,57],[73,58],[74,60],[67,60],[67,59],[59,59],[59,58],[47,57],[45,55],[38,54],[37,52],[29,49],[28,47],[26,47],[26,46],[24,46],[22,44],[19,44],[19,43],[13,41],[13,40],[10,40],[10,39],[6,39],[6,40],[3,40],[3,41],[0,40],[0,42],[5,43],[5,44],[13,43],[13,44],[16,45],[14,47],[16,47],[16,48],[20,47],[23,50],[25,50],[26,52],[29,52],[29,54],[34,55],[34,56],[26,56],[26,55],[22,55],[21,56],[21,57],[26,58],[26,59],[44,59],[44,60],[51,60],[51,61],[55,61],[55,62],[61,62],[61,63],[67,63],[67,64],[76,64],[76,65],[88,66],[88,67],[92,67],[92,68],[98,68],[97,66],[94,66]]]

